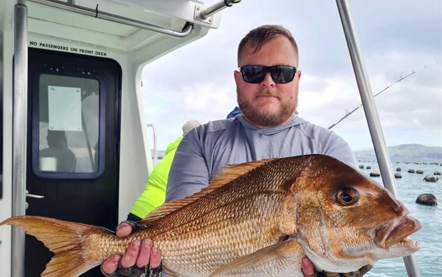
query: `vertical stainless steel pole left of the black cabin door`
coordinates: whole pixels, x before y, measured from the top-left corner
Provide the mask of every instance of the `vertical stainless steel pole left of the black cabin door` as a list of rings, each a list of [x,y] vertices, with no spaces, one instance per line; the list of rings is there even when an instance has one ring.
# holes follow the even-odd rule
[[[28,111],[28,8],[25,1],[14,7],[14,104],[12,143],[12,215],[26,212],[26,128]],[[25,275],[25,232],[12,227],[11,275]]]

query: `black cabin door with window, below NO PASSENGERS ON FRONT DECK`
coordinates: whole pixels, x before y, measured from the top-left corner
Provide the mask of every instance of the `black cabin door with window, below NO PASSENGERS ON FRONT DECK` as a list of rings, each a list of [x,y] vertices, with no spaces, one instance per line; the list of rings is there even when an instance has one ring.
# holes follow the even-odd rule
[[[118,221],[121,67],[29,49],[26,214],[103,226]],[[43,197],[43,198],[41,198]],[[26,276],[53,254],[26,236]],[[101,276],[95,268],[82,276]]]

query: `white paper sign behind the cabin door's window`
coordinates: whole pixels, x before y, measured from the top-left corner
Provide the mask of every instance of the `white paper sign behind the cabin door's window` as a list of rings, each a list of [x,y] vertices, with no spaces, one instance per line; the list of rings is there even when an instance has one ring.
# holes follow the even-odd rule
[[[49,130],[81,131],[81,88],[48,86]]]

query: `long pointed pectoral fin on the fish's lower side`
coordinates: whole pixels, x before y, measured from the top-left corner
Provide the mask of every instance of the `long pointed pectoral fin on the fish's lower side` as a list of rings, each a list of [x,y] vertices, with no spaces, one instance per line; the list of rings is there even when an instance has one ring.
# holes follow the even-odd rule
[[[244,257],[238,258],[229,264],[222,266],[212,273],[209,277],[216,276],[218,274],[224,274],[227,272],[240,271],[246,268],[254,267],[257,265],[266,264],[275,260],[284,259],[282,255],[284,251],[281,248],[285,248],[288,241],[282,241],[274,245],[259,249],[256,252],[250,253]]]

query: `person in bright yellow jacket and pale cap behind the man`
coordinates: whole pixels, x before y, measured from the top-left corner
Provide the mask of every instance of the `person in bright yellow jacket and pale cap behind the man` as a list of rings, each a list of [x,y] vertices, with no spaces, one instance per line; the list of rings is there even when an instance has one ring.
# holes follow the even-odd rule
[[[169,170],[172,165],[176,148],[178,148],[183,136],[188,131],[201,124],[201,122],[196,120],[189,120],[184,123],[182,127],[183,135],[180,135],[174,142],[167,146],[163,159],[160,160],[152,173],[150,173],[144,191],[132,206],[129,215],[127,216],[127,220],[140,221],[156,207],[164,203],[166,198],[167,177],[169,176]]]

